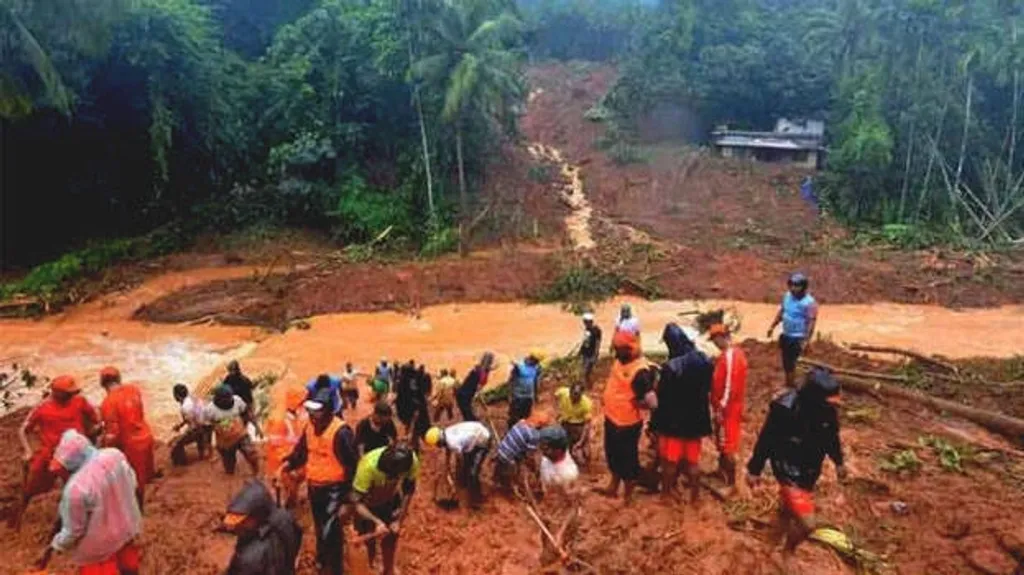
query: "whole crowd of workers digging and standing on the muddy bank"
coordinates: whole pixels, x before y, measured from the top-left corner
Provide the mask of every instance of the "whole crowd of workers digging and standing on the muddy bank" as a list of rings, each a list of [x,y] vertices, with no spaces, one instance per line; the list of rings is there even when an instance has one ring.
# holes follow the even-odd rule
[[[797,359],[813,337],[816,314],[806,276],[794,274],[769,328],[771,336],[782,324],[779,346],[786,388],[772,400],[746,465],[748,482],[753,485],[771,461],[790,550],[813,528],[812,491],[824,457],[829,456],[840,477],[845,477],[836,412],[839,384],[828,372],[816,369],[796,386]],[[591,459],[594,414],[588,390],[602,339],[593,315],[585,314],[583,321],[581,378],[554,391],[555,415],[538,407],[543,354],[534,351],[513,363],[507,382],[507,431],[501,438],[489,418],[481,422],[474,407],[477,393],[494,371],[495,356],[489,352],[482,354],[461,385],[452,369],[441,370],[435,384],[414,361],[399,366],[382,359],[372,374],[362,374],[349,363],[340,377],[322,374],[303,388],[288,389],[284,409],[268,418],[265,431],[254,416],[253,383],[237,361],[228,365],[209,403],[190,395],[186,386],[174,386],[182,419],[170,445],[173,463],[187,462],[185,450],[190,445],[197,446],[201,458],[212,445],[227,474],[234,473],[241,452],[255,476],[260,457],[253,434],[265,443],[267,481],[247,481],[223,519],[222,528],[238,536],[227,573],[294,573],[302,530],[290,508],[299,500],[302,483],[307,485],[321,573],[343,572],[348,523],[366,542],[371,563],[379,543],[383,573],[394,573],[398,537],[419,478],[421,443],[444,451],[441,480],[464,485],[473,507],[482,502],[480,475],[493,450],[495,479],[512,491],[529,491],[536,476],[544,478],[542,483],[574,481],[577,461],[589,466]],[[607,486],[599,489],[602,494],[617,497],[622,488],[629,504],[640,484],[676,501],[677,485],[684,477],[689,498],[695,501],[702,442],[712,436],[719,453],[718,473],[729,486],[736,485],[746,357],[721,323],[708,330],[721,352],[714,361],[697,349],[695,337],[688,328],[669,323],[663,331],[668,360],[652,363],[641,351],[639,319],[629,306],[622,309],[601,397],[610,475]],[[345,411],[356,408],[356,382],[362,379],[372,390],[373,410],[353,428]],[[60,518],[40,568],[53,551],[68,551],[83,574],[139,570],[135,538],[144,487],[158,475],[154,437],[139,388],[122,383],[114,367],[100,371],[99,383],[106,395],[97,412],[80,395],[74,378],[54,379],[48,397],[20,428],[25,482],[11,525],[17,526],[34,495],[52,488],[58,478],[65,480]],[[434,421],[442,415],[451,421],[456,407],[461,422],[430,426],[431,408]],[[395,414],[404,428],[401,435],[392,421]],[[646,470],[639,457],[645,426],[656,453]],[[29,443],[30,431],[37,432],[35,450]],[[534,456],[538,451],[540,465]]]

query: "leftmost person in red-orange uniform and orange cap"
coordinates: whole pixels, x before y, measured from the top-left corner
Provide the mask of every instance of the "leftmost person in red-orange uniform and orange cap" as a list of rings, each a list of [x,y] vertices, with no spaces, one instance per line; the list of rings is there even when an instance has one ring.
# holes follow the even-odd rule
[[[90,436],[99,423],[96,410],[80,395],[81,391],[75,378],[55,378],[50,382],[49,397],[29,413],[18,429],[18,439],[25,450],[25,484],[22,487],[22,500],[7,521],[12,529],[20,527],[22,515],[29,501],[53,488],[56,476],[50,472],[49,466],[63,432],[75,430],[84,436]],[[35,450],[29,444],[30,431],[39,435],[39,445]]]

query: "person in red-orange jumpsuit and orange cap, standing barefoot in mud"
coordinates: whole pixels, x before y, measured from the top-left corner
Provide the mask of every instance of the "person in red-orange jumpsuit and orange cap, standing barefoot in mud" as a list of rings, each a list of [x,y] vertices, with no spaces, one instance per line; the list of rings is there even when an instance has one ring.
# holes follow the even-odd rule
[[[719,473],[730,487],[736,485],[736,454],[746,398],[746,354],[732,343],[728,327],[711,326],[708,337],[721,350],[715,362],[711,387],[711,409],[716,424]]]

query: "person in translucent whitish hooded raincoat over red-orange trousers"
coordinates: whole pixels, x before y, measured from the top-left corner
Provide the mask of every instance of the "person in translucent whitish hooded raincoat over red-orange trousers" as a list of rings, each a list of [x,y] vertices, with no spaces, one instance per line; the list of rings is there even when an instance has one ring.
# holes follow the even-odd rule
[[[135,538],[142,529],[135,472],[119,449],[96,449],[68,430],[53,452],[50,471],[67,478],[60,528],[37,562],[43,570],[54,551],[68,552],[79,575],[138,575]]]

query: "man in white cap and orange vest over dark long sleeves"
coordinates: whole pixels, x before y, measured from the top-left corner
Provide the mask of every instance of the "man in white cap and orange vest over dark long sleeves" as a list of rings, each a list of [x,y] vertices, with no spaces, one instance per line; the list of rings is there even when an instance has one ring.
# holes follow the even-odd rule
[[[342,575],[345,548],[345,506],[358,461],[355,434],[348,424],[331,412],[332,393],[316,392],[305,402],[309,425],[280,473],[306,468],[309,508],[316,537],[316,564],[322,575]]]

